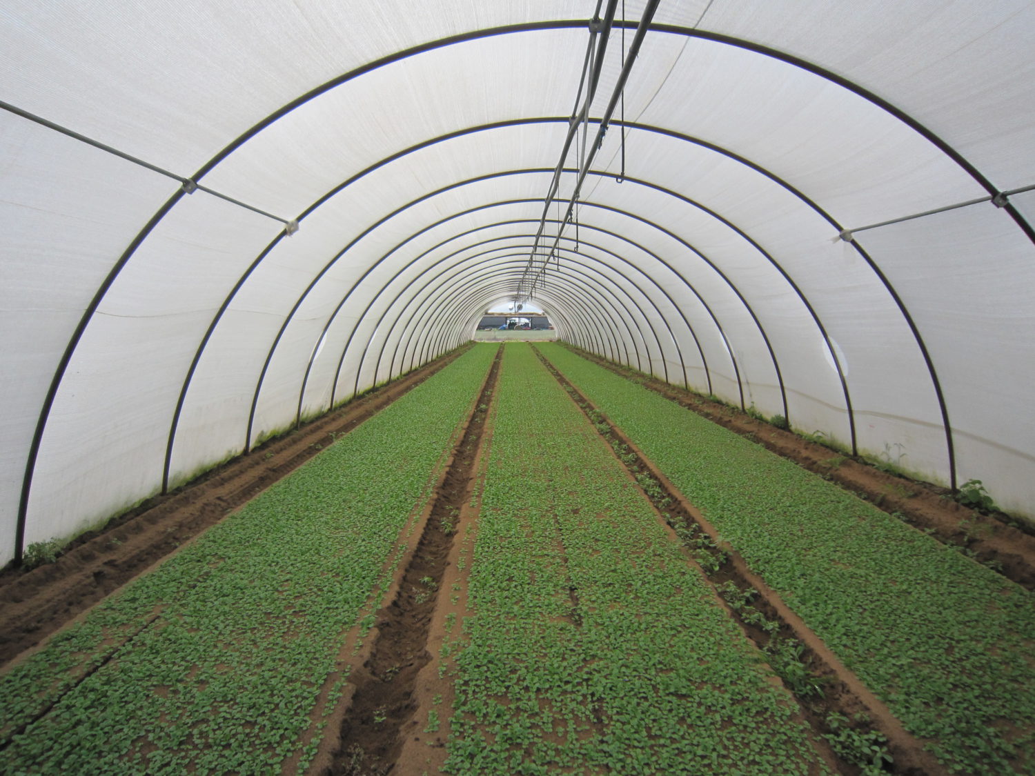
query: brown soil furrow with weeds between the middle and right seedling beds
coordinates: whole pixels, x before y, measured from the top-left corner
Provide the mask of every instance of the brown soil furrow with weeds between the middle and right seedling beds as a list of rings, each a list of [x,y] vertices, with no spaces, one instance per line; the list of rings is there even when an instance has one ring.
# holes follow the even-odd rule
[[[668,515],[667,521],[676,530],[679,538],[682,540],[687,536],[700,537],[685,542],[684,545],[690,550],[691,557],[704,561],[699,565],[711,586],[730,592],[732,592],[730,585],[736,586],[739,595],[729,593],[722,595],[719,590],[716,590],[715,594],[748,638],[767,655],[766,647],[772,639],[778,638],[785,644],[797,641],[801,646],[798,656],[800,664],[807,670],[808,679],[806,681],[801,681],[804,678],[799,678],[799,681],[781,679],[788,691],[798,702],[804,718],[814,730],[815,739],[825,742],[824,736],[834,733],[827,721],[829,715],[839,714],[847,718],[848,727],[860,734],[876,732],[884,736],[887,742],[885,746],[893,758],[890,765],[885,765],[884,770],[887,773],[899,776],[948,776],[948,770],[933,754],[924,751],[923,746],[926,742],[906,730],[887,706],[841,663],[775,591],[748,568],[740,554],[721,542],[715,528],[650,459],[571,385],[537,348],[533,349],[600,436],[615,449],[619,460],[629,470],[646,498],[654,504],[661,515]],[[605,425],[609,430],[601,430],[599,424]],[[755,591],[756,595],[750,596],[748,591]],[[734,603],[731,603],[731,598]],[[748,599],[749,605],[741,603]],[[761,618],[752,617],[752,613],[758,613]],[[751,622],[748,622],[745,616]],[[765,624],[768,624],[768,627]],[[814,686],[822,687],[822,694],[808,691],[810,682]],[[796,692],[796,689],[799,691]],[[868,722],[856,719],[859,713],[865,714],[869,718]],[[839,773],[846,776],[861,773],[857,765],[847,762],[836,752],[831,754],[837,759]]]

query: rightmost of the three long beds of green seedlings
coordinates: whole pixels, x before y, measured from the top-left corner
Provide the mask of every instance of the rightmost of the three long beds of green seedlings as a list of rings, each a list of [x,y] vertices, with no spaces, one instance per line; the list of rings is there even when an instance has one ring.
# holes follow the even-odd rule
[[[950,771],[1035,773],[1029,592],[657,393],[540,348]]]

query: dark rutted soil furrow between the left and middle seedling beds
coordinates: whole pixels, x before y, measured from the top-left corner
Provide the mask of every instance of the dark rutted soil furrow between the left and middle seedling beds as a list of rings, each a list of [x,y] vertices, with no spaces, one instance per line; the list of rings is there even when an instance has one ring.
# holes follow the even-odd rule
[[[456,515],[471,497],[502,354],[500,348],[435,497],[413,558],[397,577],[398,592],[378,613],[375,626],[378,634],[369,658],[363,663],[363,670],[351,675],[356,686],[342,720],[331,765],[323,770],[327,776],[383,776],[396,765],[406,767],[398,762],[406,743],[404,728],[409,730],[413,726],[418,710],[417,676],[432,660],[427,646],[433,616],[443,595]]]

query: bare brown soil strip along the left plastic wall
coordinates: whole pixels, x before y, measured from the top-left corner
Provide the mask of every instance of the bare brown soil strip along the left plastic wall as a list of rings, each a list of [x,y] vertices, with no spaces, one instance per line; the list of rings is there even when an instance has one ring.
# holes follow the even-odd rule
[[[466,350],[466,349],[464,349]],[[455,359],[455,351],[83,534],[51,564],[0,572],[0,667]]]

